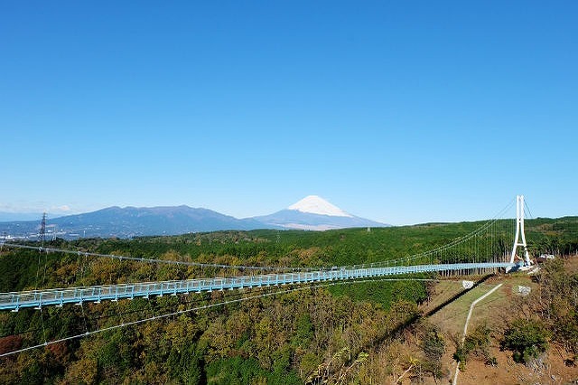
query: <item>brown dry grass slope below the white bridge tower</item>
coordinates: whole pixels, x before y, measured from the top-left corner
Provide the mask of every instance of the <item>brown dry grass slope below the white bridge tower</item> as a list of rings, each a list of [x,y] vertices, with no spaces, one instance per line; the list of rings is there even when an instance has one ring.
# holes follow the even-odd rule
[[[568,268],[578,271],[578,258],[567,261]],[[529,368],[526,365],[512,360],[511,352],[500,352],[499,340],[501,333],[511,317],[510,309],[514,301],[519,300],[518,286],[530,286],[536,288],[526,273],[492,277],[485,283],[472,289],[469,293],[446,305],[436,314],[430,317],[430,322],[437,325],[443,332],[446,341],[446,352],[443,355],[443,367],[446,369],[445,377],[438,383],[451,383],[455,371],[456,362],[452,358],[455,352],[455,343],[461,340],[463,326],[468,315],[471,303],[487,293],[492,287],[502,283],[499,290],[482,300],[474,307],[468,330],[474,330],[479,324],[486,324],[492,330],[492,345],[489,348],[491,356],[496,357],[498,365],[491,367],[483,361],[472,358],[466,365],[466,370],[461,372],[458,378],[460,385],[482,384],[565,384],[578,381],[578,367],[564,365],[564,354],[556,346],[551,346],[539,368]],[[460,290],[460,282],[442,281],[434,286],[436,296],[429,304],[424,304],[427,311],[435,305],[443,303]],[[433,379],[431,383],[433,384]],[[430,383],[429,381],[426,383]]]

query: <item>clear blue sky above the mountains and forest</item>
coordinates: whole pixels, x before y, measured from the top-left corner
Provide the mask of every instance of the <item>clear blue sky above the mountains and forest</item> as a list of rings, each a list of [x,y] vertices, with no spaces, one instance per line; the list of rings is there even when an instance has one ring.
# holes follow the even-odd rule
[[[578,2],[0,3],[0,211],[578,214]],[[512,213],[515,215],[515,213]]]

